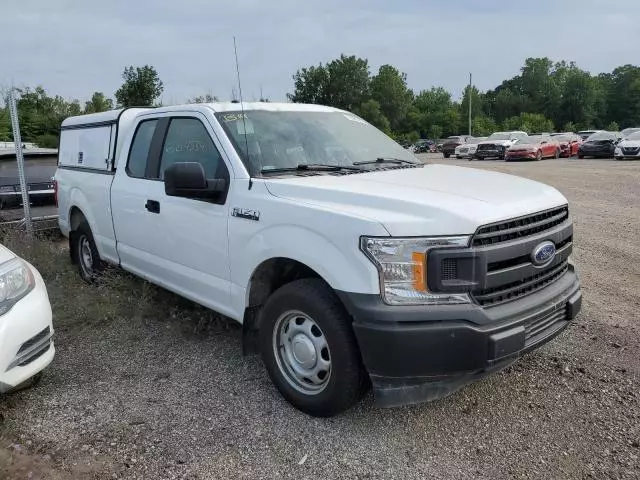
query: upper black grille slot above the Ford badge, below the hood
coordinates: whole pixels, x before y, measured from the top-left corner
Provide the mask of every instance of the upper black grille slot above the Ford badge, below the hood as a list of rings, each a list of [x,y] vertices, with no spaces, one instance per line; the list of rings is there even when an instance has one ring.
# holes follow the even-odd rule
[[[569,207],[564,205],[559,208],[534,213],[525,217],[515,218],[506,222],[494,223],[480,227],[473,236],[472,245],[479,247],[493,245],[500,242],[535,235],[561,224],[569,217]]]

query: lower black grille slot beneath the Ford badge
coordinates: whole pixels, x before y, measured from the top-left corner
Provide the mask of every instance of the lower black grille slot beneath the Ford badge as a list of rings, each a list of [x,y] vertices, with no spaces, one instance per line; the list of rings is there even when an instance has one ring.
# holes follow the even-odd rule
[[[534,293],[555,282],[562,277],[568,269],[569,262],[564,260],[557,265],[541,270],[540,273],[532,277],[523,278],[520,281],[500,285],[495,288],[477,290],[473,293],[473,297],[476,302],[483,307],[510,302],[525,295]]]

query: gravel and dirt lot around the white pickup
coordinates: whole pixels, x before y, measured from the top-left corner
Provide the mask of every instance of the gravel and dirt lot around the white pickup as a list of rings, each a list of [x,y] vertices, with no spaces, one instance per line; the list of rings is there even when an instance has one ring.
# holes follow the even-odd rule
[[[571,202],[585,297],[554,342],[432,404],[369,396],[313,419],[240,355],[237,326],[124,274],[82,285],[59,244],[22,247],[58,351],[38,387],[0,399],[0,478],[640,478],[640,162],[472,166]]]

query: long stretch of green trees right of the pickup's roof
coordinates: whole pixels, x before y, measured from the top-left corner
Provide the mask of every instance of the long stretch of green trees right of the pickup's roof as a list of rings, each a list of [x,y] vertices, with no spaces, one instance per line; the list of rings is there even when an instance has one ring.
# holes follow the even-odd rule
[[[467,86],[462,99],[432,87],[417,93],[406,74],[383,65],[371,74],[367,59],[341,55],[293,75],[293,102],[320,103],[353,111],[396,138],[441,138],[496,130],[618,130],[640,125],[640,67],[623,65],[592,75],[574,62],[528,58],[513,78],[493,90]]]

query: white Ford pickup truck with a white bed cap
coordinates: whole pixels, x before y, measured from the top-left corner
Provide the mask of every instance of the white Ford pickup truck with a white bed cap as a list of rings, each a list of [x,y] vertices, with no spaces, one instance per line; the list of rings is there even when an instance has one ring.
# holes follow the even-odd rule
[[[282,395],[329,416],[433,400],[576,316],[555,189],[425,165],[335,108],[216,103],[73,117],[59,223],[88,281],[117,265],[243,325]]]

